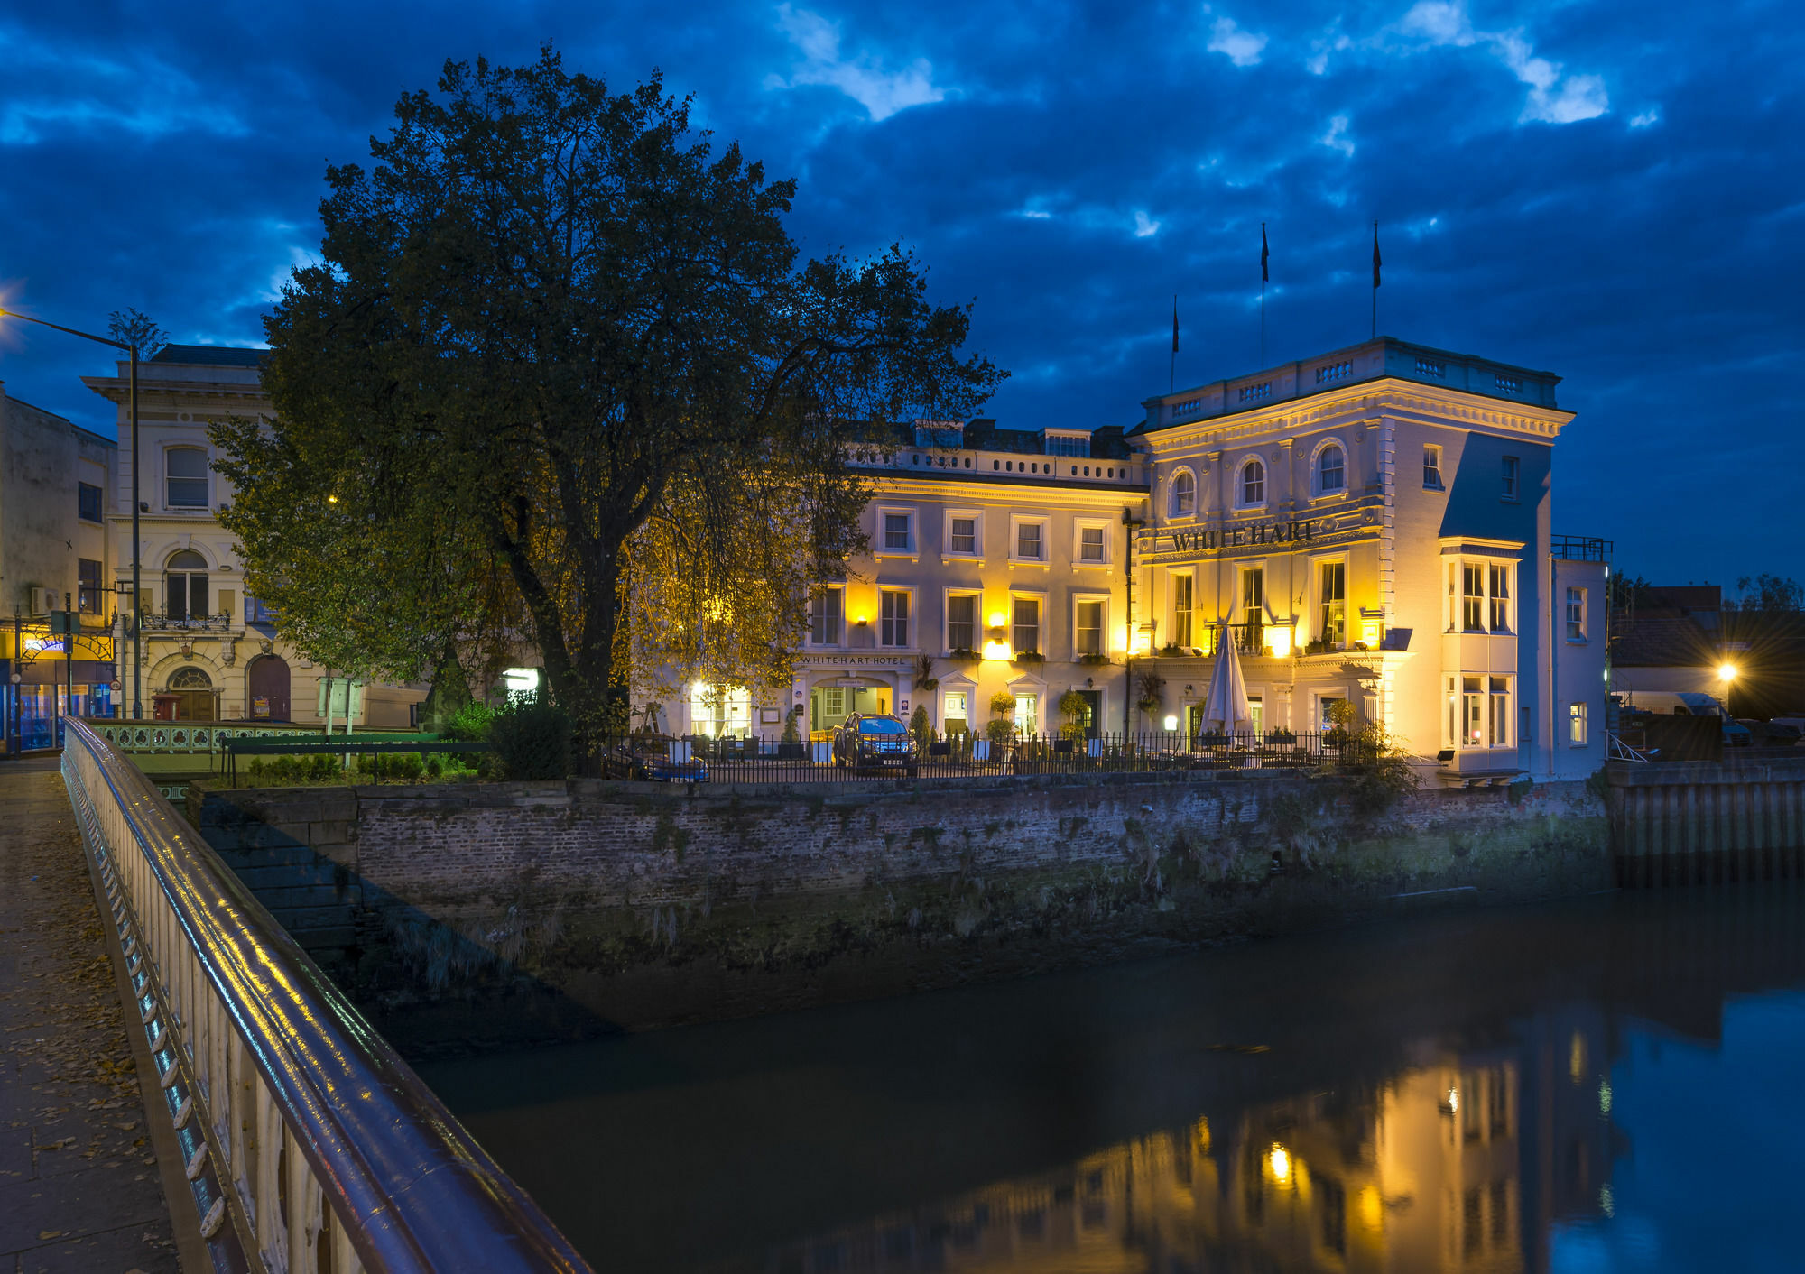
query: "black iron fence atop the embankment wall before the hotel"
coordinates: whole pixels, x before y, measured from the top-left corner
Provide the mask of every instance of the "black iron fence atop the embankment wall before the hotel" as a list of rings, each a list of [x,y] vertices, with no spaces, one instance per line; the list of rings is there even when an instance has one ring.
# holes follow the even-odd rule
[[[893,736],[892,736],[893,738]],[[709,783],[794,783],[996,774],[1209,772],[1316,769],[1339,754],[1339,731],[1186,734],[958,734],[908,738],[895,751],[856,749],[848,736],[632,736],[601,749],[605,778]]]

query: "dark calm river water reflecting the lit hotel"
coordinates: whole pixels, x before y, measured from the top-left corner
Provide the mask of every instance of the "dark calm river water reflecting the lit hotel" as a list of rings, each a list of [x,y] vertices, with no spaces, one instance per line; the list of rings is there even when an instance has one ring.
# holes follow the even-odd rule
[[[1805,891],[422,1066],[597,1270],[1800,1269]]]

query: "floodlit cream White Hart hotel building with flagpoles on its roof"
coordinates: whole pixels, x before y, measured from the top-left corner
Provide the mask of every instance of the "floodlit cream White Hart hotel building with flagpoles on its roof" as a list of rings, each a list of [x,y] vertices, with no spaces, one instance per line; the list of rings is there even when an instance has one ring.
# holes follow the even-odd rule
[[[1076,691],[1092,734],[1195,733],[1227,633],[1258,731],[1347,700],[1448,783],[1590,774],[1608,565],[1550,532],[1558,379],[1379,337],[1128,429],[906,428],[859,460],[872,550],[823,581],[787,697],[693,686],[666,724],[982,731],[1002,693],[1056,731]]]

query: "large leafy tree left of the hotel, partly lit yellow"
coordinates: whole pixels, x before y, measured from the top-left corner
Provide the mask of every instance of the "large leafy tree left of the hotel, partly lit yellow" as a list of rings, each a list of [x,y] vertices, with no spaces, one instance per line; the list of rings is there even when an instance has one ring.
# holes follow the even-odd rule
[[[895,247],[798,265],[796,184],[657,76],[453,61],[370,146],[267,319],[274,419],[217,429],[249,585],[377,673],[518,633],[587,738],[659,669],[787,680],[865,543],[848,442],[1004,375],[969,307]]]

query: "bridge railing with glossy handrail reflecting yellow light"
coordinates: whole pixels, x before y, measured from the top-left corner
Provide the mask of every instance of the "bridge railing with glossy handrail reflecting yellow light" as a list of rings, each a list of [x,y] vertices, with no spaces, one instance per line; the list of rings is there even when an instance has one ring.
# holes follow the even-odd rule
[[[81,722],[69,722],[63,778],[157,1068],[148,1117],[175,1128],[215,1269],[588,1269],[155,785]]]

